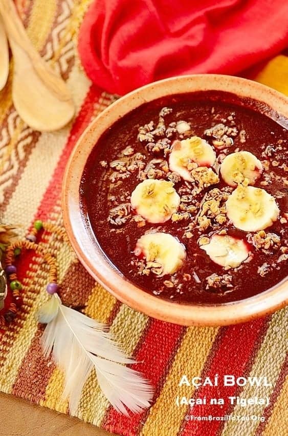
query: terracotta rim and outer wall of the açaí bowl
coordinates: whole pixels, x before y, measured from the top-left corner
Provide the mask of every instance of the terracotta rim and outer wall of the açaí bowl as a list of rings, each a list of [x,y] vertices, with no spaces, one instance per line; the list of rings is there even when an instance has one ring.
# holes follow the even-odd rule
[[[277,112],[277,121],[287,123],[288,98],[259,83],[217,74],[172,77],[130,92],[105,109],[80,137],[67,166],[62,192],[64,225],[71,244],[86,270],[107,291],[128,306],[159,320],[181,325],[213,326],[235,324],[267,315],[288,303],[288,283],[251,298],[219,305],[178,304],[144,292],[129,282],[107,259],[92,230],[85,223],[80,210],[79,185],[82,172],[101,134],[127,112],[156,98],[201,90],[220,90],[251,97],[265,105],[259,111],[271,116]],[[272,109],[269,110],[267,108]],[[286,118],[286,120],[285,120]]]

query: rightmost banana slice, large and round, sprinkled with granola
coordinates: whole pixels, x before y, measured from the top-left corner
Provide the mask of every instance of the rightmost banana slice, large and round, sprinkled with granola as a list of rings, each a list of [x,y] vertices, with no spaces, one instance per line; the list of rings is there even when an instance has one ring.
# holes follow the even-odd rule
[[[226,201],[226,212],[235,227],[247,232],[264,230],[279,216],[272,195],[264,189],[242,185],[238,185]]]

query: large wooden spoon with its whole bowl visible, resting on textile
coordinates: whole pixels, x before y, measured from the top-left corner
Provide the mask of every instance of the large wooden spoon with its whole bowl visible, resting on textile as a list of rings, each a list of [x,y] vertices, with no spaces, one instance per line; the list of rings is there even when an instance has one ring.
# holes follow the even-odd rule
[[[12,0],[0,0],[0,13],[14,56],[12,99],[34,130],[58,130],[75,113],[71,94],[33,47]]]

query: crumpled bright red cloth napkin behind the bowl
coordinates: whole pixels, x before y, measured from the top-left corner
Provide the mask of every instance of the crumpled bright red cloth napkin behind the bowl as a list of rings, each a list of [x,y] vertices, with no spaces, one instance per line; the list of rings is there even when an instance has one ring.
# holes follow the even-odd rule
[[[87,75],[117,94],[178,74],[235,74],[287,46],[287,0],[95,0],[79,34]]]

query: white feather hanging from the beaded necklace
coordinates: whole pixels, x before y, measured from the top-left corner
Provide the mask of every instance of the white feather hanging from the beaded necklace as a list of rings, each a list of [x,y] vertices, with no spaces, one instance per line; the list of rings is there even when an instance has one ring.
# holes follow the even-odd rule
[[[51,300],[57,301],[54,306],[58,306],[58,311],[45,328],[42,348],[46,357],[52,351],[55,362],[64,370],[63,398],[69,398],[71,413],[77,410],[92,370],[96,371],[105,397],[118,412],[127,415],[126,408],[139,413],[149,407],[152,387],[139,372],[124,366],[136,362],[115,343],[107,326],[63,306],[57,294]]]

